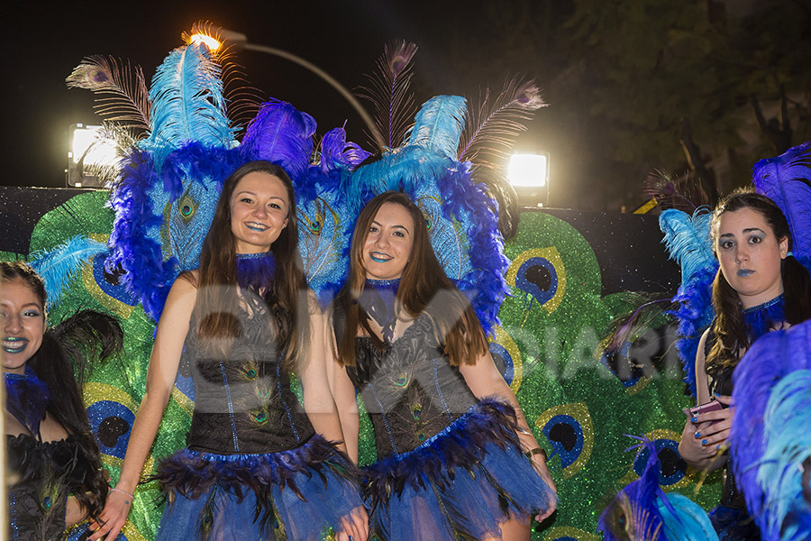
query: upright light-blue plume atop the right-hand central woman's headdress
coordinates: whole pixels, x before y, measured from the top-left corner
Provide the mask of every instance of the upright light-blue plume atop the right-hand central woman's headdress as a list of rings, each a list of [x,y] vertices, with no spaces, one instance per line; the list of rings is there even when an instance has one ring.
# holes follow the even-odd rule
[[[416,114],[406,145],[420,146],[455,160],[468,109],[461,96],[434,96]]]

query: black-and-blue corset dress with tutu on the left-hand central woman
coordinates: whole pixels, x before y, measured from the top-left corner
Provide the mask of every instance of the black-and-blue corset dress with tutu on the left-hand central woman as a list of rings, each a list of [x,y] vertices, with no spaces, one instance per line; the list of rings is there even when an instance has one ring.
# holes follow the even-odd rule
[[[362,505],[356,472],[300,408],[264,300],[251,289],[241,297],[227,358],[205,353],[192,317],[180,364],[195,410],[187,448],[154,476],[167,494],[157,539],[330,538]]]

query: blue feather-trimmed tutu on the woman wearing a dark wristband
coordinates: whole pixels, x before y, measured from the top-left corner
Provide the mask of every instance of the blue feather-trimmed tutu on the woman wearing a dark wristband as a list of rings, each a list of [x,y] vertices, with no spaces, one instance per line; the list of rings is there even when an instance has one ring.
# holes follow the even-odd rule
[[[516,428],[512,407],[484,399],[415,450],[365,468],[369,538],[500,537],[506,520],[549,509],[555,493],[522,453]]]

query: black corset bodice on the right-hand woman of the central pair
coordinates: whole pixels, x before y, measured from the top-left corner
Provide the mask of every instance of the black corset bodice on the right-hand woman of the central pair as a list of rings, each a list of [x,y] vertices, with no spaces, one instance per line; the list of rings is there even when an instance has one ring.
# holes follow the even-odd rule
[[[415,449],[478,401],[442,353],[426,315],[382,349],[358,337],[355,361],[347,373],[369,410],[378,457]]]

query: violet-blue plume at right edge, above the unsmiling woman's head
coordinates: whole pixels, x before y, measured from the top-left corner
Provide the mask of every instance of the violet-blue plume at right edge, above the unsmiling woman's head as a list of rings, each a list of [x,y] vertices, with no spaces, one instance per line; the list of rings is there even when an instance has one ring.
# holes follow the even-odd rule
[[[752,182],[786,215],[795,257],[811,258],[811,142],[755,163]]]

